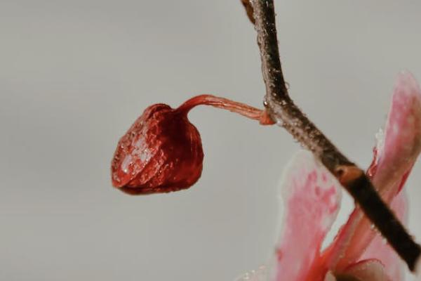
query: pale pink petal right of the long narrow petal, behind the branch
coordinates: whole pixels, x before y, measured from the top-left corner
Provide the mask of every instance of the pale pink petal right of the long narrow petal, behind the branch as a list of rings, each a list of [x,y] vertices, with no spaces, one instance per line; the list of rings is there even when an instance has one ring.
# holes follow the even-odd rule
[[[390,206],[402,223],[406,223],[407,221],[407,206],[406,192],[402,190],[399,192],[399,195],[394,197]],[[403,261],[379,233],[375,235],[373,241],[371,241],[360,259],[378,259],[382,261],[382,264],[385,266],[385,273],[387,273],[391,280],[403,280]]]

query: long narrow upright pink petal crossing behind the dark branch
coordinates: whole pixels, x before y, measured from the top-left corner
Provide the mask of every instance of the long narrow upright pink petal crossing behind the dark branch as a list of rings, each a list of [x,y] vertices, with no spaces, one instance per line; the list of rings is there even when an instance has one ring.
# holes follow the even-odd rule
[[[389,203],[405,183],[421,150],[421,90],[408,72],[399,74],[385,136],[377,141],[368,176]],[[356,207],[333,244],[323,253],[329,268],[344,270],[356,262],[374,236],[370,221]]]

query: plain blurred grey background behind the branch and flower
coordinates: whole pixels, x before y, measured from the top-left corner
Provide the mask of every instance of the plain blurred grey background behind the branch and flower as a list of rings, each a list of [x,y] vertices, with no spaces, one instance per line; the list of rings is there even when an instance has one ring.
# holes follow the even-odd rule
[[[363,167],[396,74],[421,80],[420,11],[417,1],[276,1],[290,95]],[[109,175],[147,105],[213,93],[262,107],[239,0],[3,0],[0,34],[0,280],[219,281],[267,261],[281,171],[300,149],[282,129],[197,107],[196,185],[131,197]],[[419,242],[420,184],[417,164],[408,195]]]

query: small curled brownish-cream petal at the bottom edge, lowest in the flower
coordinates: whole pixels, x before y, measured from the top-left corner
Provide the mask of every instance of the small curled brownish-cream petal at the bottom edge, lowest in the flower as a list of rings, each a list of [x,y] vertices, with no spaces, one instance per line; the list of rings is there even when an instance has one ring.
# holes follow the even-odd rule
[[[369,259],[359,261],[349,266],[343,273],[355,277],[357,280],[370,280],[370,281],[389,281],[391,280],[386,272],[383,264],[376,259]],[[397,280],[394,280],[397,281]]]

